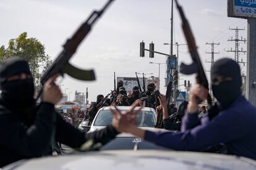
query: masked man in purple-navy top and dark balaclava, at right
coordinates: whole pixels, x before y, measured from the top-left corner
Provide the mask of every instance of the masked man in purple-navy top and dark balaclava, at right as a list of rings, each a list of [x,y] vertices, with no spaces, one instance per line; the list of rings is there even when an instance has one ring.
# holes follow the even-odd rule
[[[174,150],[200,151],[224,143],[230,154],[256,160],[256,108],[241,95],[241,84],[239,65],[231,59],[218,60],[211,68],[211,87],[218,103],[208,110],[208,116],[198,118],[198,99],[207,99],[208,89],[195,84],[190,90],[190,103],[180,133],[145,131],[133,124],[119,128]],[[166,110],[164,98],[160,102]]]

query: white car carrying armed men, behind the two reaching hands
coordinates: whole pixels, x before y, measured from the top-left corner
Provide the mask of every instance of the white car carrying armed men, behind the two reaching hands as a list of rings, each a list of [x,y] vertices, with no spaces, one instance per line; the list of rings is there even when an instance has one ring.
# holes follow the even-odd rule
[[[90,128],[90,131],[93,132],[99,129],[103,129],[108,124],[111,124],[113,115],[111,111],[109,110],[111,107],[103,107],[101,108],[95,118],[93,119],[92,126]],[[114,107],[112,107],[114,109]],[[129,110],[130,107],[117,107],[122,112]],[[135,107],[135,110],[138,110],[140,107]],[[156,112],[155,109],[150,107],[144,107],[140,111],[140,113],[137,116],[137,123],[139,127],[155,127],[156,124]]]

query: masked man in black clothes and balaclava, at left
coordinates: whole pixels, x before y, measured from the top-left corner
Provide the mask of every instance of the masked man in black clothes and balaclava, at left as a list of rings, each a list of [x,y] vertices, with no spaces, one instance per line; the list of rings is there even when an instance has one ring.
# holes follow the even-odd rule
[[[12,57],[0,64],[0,167],[49,155],[51,145],[56,142],[79,148],[88,139],[106,144],[118,133],[113,125],[109,125],[103,130],[84,134],[66,123],[54,110],[62,97],[54,83],[57,77],[53,76],[45,83],[43,102],[36,106],[28,62]]]

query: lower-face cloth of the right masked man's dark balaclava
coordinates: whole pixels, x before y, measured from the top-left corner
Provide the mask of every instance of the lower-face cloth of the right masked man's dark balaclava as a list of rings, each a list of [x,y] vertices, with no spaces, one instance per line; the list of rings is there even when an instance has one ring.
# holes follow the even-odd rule
[[[223,81],[219,85],[211,85],[211,88],[223,109],[228,108],[241,95],[240,85],[236,81]]]

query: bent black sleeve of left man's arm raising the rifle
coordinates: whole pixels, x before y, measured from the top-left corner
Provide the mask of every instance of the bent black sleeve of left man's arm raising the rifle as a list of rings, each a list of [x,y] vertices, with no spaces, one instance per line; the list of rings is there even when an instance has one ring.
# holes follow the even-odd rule
[[[55,118],[54,105],[45,102],[38,109],[35,123],[29,128],[12,113],[1,115],[0,144],[14,150],[19,155],[41,156],[51,145]]]

